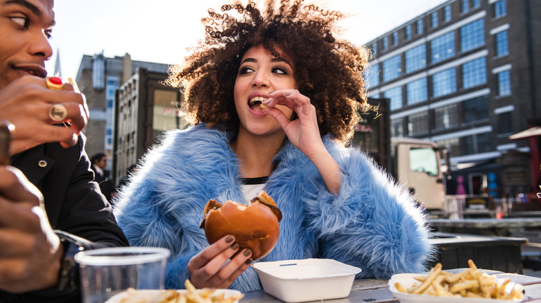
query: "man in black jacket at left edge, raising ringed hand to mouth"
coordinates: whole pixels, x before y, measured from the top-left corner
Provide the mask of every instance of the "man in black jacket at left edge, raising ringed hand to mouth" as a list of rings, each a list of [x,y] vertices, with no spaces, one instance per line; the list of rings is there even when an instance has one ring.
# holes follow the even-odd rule
[[[0,165],[0,302],[80,302],[75,252],[128,245],[92,182],[84,96],[44,79],[53,24],[53,0],[0,0],[0,119],[15,125]]]

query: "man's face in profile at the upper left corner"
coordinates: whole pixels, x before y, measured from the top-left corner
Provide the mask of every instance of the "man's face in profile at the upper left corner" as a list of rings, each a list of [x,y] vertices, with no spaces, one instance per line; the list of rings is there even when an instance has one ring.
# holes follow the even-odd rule
[[[53,25],[53,0],[0,0],[0,89],[23,75],[47,75]]]

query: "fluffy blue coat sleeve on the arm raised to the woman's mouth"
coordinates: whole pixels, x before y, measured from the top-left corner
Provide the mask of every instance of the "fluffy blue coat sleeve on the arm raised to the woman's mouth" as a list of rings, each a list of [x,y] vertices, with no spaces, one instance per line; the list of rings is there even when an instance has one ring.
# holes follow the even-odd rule
[[[338,196],[314,187],[307,198],[321,257],[360,267],[358,277],[388,279],[426,270],[433,248],[412,197],[363,152],[327,148],[341,166],[343,183]]]

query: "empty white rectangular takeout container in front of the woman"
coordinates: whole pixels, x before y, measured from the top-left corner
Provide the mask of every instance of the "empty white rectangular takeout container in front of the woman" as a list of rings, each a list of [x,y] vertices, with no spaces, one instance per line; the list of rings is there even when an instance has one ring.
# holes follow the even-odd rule
[[[347,297],[361,268],[333,259],[302,259],[252,264],[269,295],[293,303]]]

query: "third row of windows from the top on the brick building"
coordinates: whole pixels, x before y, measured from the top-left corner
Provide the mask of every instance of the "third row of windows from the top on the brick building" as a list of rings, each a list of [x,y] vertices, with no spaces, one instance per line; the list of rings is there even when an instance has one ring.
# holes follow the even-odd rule
[[[470,89],[487,83],[486,58],[482,57],[466,62],[461,66],[462,88]],[[444,71],[434,73],[431,76],[432,97],[440,98],[445,95],[456,93],[456,68],[447,68]],[[405,104],[413,105],[428,100],[429,82],[427,77],[413,80],[405,85],[406,100],[402,96],[402,86],[396,86],[383,92],[384,98],[390,100],[390,110],[401,109]],[[497,73],[497,92],[499,97],[511,94],[510,71]]]

